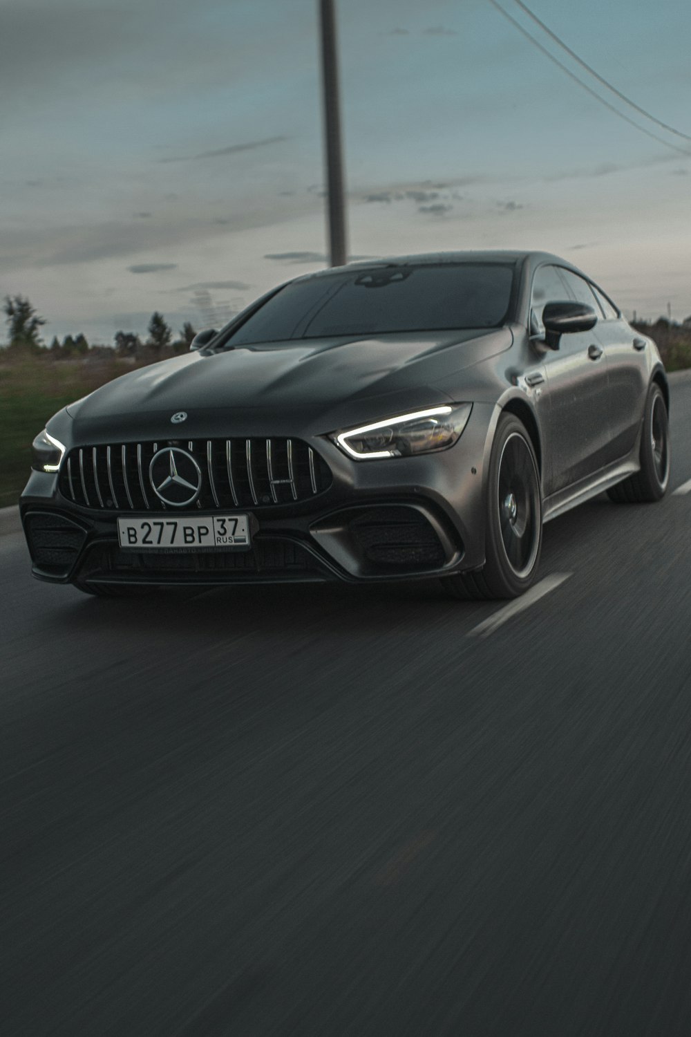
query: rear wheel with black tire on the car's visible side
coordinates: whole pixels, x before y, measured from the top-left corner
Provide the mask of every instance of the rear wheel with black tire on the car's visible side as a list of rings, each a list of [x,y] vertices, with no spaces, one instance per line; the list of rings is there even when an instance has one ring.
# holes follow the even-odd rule
[[[669,419],[662,390],[652,382],[645,399],[640,439],[640,471],[610,486],[615,504],[651,504],[661,500],[669,482]]]

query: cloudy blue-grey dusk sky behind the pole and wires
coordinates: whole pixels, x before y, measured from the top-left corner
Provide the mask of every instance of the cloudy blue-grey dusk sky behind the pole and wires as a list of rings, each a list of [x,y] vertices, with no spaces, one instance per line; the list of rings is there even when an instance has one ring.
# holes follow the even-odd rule
[[[691,4],[527,0],[665,130],[496,2],[640,129],[492,0],[336,0],[349,254],[541,249],[684,319]],[[317,7],[0,0],[0,297],[46,341],[218,325],[325,265]]]

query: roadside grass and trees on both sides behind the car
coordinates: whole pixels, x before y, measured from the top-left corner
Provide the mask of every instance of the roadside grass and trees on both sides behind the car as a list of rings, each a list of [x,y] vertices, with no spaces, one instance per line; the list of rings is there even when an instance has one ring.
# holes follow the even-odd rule
[[[45,320],[28,300],[7,298],[3,309],[9,342],[0,345],[0,507],[17,503],[31,468],[31,442],[51,415],[136,367],[186,353],[195,335],[185,324],[175,338],[163,314],[153,313],[144,341],[120,331],[113,345],[90,345],[77,334],[46,346],[39,337]],[[691,367],[691,317],[632,327],[657,342],[668,371]]]

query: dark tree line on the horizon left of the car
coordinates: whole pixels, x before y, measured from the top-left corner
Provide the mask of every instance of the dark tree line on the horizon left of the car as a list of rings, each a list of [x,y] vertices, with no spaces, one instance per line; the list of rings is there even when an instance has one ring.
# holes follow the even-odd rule
[[[196,334],[192,324],[185,320],[178,336],[174,337],[172,327],[163,313],[155,310],[151,314],[147,337],[143,341],[137,334],[118,331],[113,345],[91,345],[80,332],[65,335],[62,341],[54,335],[53,341],[47,346],[40,334],[46,319],[36,312],[25,296],[6,296],[2,309],[8,332],[6,348],[12,354],[28,354],[52,360],[74,360],[87,356],[94,359],[127,357],[134,360],[161,360],[163,357],[186,353]]]

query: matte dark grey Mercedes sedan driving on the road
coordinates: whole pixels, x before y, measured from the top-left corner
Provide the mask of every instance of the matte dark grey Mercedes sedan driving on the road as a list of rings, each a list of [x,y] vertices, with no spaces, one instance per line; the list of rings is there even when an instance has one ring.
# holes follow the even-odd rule
[[[548,518],[662,497],[668,410],[655,343],[556,256],[322,271],[51,418],[21,499],[33,573],[512,597]]]

